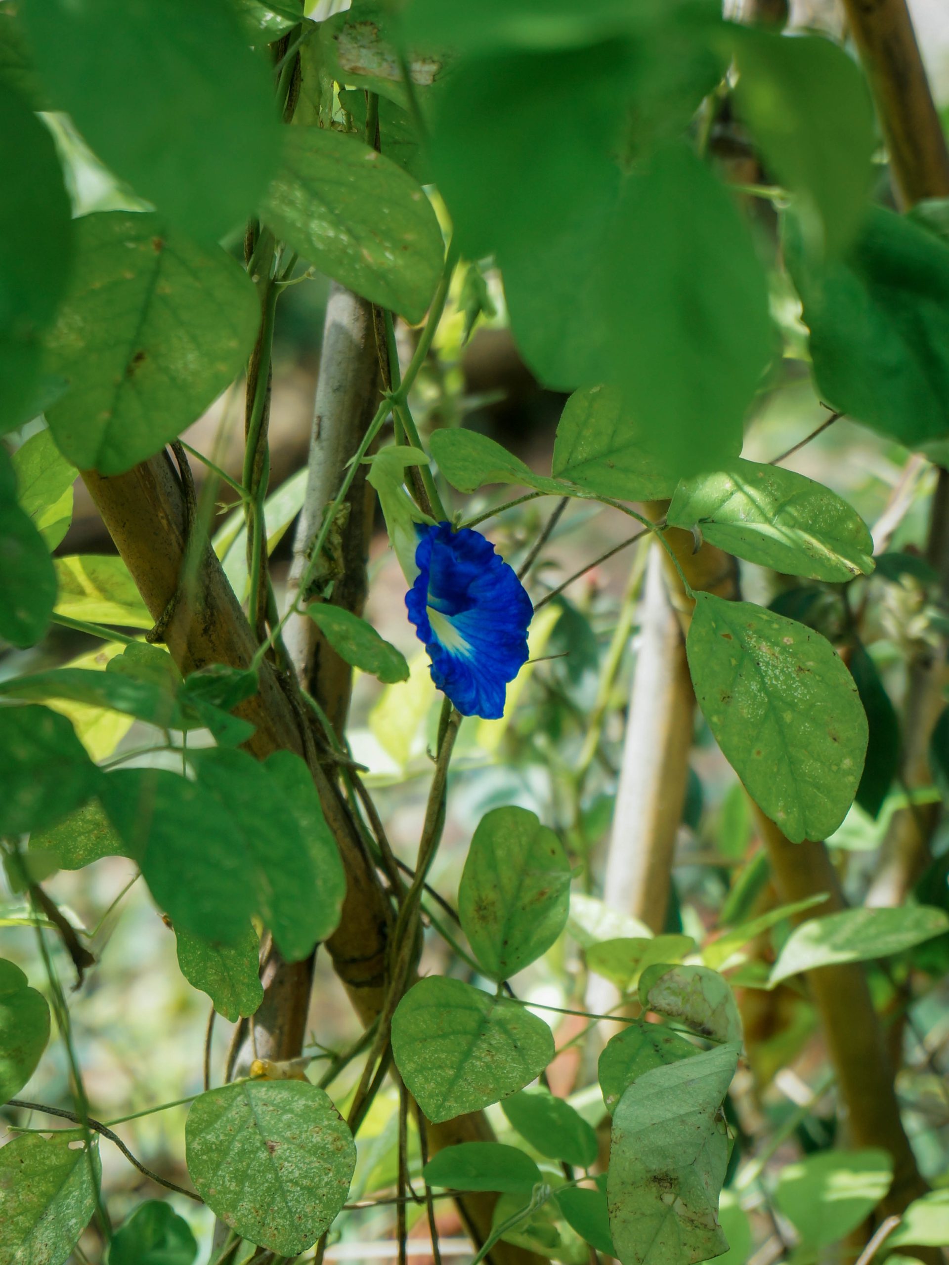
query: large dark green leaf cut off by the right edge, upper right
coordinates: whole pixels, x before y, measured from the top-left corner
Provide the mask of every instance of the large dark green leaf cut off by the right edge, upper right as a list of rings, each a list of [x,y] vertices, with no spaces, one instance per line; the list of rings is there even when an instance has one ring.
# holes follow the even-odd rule
[[[811,331],[821,397],[917,448],[949,431],[949,245],[883,207],[843,259],[810,257],[786,218],[785,258]]]

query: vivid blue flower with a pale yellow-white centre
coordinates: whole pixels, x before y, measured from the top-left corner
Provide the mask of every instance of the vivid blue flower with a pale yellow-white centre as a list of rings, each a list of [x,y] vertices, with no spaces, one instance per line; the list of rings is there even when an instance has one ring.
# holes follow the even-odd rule
[[[528,658],[534,614],[515,572],[471,528],[418,525],[419,574],[405,605],[431,659],[431,679],[463,716],[497,720]]]

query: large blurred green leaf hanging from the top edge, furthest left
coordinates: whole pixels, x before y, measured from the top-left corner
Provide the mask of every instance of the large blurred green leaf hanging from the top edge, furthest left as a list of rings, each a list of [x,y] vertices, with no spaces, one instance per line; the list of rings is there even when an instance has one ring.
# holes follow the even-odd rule
[[[35,0],[22,18],[56,108],[137,194],[211,240],[252,214],[277,111],[229,0]]]

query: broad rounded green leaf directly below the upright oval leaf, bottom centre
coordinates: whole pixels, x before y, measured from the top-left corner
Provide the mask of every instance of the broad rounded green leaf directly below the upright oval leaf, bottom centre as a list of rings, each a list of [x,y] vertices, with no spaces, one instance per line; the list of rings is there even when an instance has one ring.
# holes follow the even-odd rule
[[[543,1020],[459,979],[420,980],[392,1016],[396,1066],[433,1123],[516,1093],[553,1054]]]

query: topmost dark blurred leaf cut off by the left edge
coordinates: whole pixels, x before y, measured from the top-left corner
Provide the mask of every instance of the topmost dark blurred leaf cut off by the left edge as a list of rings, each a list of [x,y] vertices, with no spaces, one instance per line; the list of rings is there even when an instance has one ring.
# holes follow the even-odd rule
[[[13,29],[4,14],[0,34]],[[9,46],[8,46],[9,47]],[[4,44],[0,43],[0,67]],[[73,225],[53,138],[0,68],[0,435],[29,421],[40,338],[68,281]],[[38,411],[38,410],[37,410]]]

